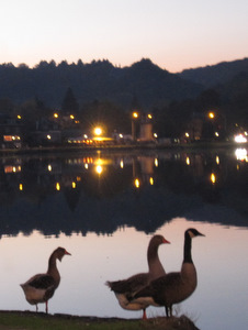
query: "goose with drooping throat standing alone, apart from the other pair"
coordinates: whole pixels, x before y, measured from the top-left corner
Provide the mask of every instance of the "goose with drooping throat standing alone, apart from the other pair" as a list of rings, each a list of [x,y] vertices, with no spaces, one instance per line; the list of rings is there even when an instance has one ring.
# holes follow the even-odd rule
[[[48,299],[54,296],[60,282],[56,261],[57,258],[61,261],[65,254],[71,255],[66,249],[57,248],[49,257],[47,272],[45,274],[34,275],[27,282],[21,284],[26,300],[31,305],[36,305],[36,311],[38,310],[37,304],[45,302],[46,314],[48,312]]]

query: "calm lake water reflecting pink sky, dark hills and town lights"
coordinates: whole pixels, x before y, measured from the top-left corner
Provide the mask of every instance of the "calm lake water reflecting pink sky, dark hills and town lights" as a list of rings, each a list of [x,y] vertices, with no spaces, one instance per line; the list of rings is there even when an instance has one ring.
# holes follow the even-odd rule
[[[50,314],[139,318],[104,283],[146,272],[155,233],[171,242],[159,248],[166,271],[179,271],[184,230],[194,227],[205,234],[192,243],[199,285],[176,312],[200,329],[247,329],[247,183],[244,147],[0,157],[0,309],[34,311],[20,283],[64,246],[72,255],[58,262]]]

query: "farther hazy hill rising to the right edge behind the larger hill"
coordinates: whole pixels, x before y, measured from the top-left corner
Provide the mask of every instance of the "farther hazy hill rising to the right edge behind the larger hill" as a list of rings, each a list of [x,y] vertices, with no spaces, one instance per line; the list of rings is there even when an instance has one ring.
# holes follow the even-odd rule
[[[205,88],[212,88],[217,85],[226,84],[240,73],[248,73],[248,58],[187,69],[178,74],[178,76],[185,80],[200,84]]]

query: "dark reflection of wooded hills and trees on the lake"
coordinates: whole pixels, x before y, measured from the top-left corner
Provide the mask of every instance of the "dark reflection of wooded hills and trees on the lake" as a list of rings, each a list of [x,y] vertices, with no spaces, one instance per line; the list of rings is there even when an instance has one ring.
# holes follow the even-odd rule
[[[191,215],[194,220],[195,210],[206,208],[232,209],[237,213],[234,219],[213,221],[244,226],[247,163],[226,153],[217,160],[216,153],[161,154],[158,158],[156,167],[154,156],[125,156],[121,168],[120,156],[109,156],[101,174],[95,172],[93,158],[84,166],[79,157],[71,162],[65,156],[23,157],[19,173],[11,173],[14,158],[1,160],[0,234],[29,234],[34,229],[46,235],[110,234],[123,226],[150,233],[174,217]],[[211,182],[211,174],[216,182]],[[140,179],[139,188],[134,186],[134,177]],[[210,221],[204,213],[201,219]]]

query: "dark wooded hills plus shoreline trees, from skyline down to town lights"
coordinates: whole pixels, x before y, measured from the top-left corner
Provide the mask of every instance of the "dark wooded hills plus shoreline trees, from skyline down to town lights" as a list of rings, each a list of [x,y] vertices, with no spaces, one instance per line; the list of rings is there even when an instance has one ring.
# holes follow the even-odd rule
[[[134,102],[135,100],[135,102]],[[0,65],[0,112],[30,122],[69,110],[87,125],[100,120],[110,131],[129,130],[128,111],[151,111],[160,136],[179,136],[192,116],[215,110],[227,128],[248,125],[248,59],[170,74],[142,59],[129,67],[109,61],[56,64],[42,61]]]

